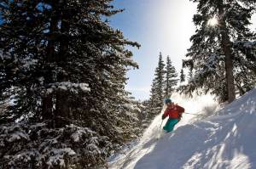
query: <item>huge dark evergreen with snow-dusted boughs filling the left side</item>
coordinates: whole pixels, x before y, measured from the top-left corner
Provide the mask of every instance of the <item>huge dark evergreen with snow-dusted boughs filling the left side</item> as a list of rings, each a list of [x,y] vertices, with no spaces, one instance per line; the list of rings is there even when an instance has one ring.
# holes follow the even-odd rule
[[[121,12],[109,3],[0,3],[1,168],[91,168],[134,138],[125,45],[139,45],[102,21]]]

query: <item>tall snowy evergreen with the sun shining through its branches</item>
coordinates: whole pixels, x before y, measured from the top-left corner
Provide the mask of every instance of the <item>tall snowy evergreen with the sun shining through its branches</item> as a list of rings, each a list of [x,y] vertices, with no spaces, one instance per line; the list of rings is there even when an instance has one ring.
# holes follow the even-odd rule
[[[250,44],[250,49],[255,49],[253,33],[247,27],[255,11],[255,2],[193,2],[198,3],[198,14],[193,19],[196,33],[190,39],[192,46],[187,54],[189,59],[183,61],[183,66],[194,70],[195,75],[182,90],[192,93],[202,88],[206,93],[211,91],[220,101],[231,102],[235,99],[238,87],[244,90],[255,86],[253,79],[256,65],[252,57],[255,53],[244,52],[246,44]],[[213,21],[210,20],[212,18]],[[243,71],[247,76],[240,75]]]

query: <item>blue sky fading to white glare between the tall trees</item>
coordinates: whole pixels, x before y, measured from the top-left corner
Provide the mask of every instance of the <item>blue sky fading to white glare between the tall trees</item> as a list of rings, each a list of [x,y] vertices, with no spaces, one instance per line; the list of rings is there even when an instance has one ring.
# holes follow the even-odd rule
[[[116,0],[114,6],[125,11],[111,17],[110,25],[142,47],[131,48],[140,69],[128,72],[126,85],[136,99],[148,99],[160,52],[169,55],[180,72],[182,59],[195,32],[192,23],[195,4],[189,0]]]

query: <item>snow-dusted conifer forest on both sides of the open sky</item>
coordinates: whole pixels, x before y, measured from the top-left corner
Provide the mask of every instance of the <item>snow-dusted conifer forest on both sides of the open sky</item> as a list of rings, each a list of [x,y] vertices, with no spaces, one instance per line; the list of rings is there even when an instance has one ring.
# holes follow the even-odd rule
[[[108,168],[173,93],[222,104],[256,87],[255,0],[190,3],[190,47],[157,51],[139,100],[125,85],[143,44],[109,23],[124,12],[113,0],[0,0],[0,168]]]

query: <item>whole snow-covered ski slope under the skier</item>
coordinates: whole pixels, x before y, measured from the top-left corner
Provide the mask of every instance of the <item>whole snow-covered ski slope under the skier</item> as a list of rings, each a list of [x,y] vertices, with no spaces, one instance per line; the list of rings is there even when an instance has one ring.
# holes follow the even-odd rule
[[[214,111],[209,100],[180,104],[189,113],[210,106],[201,111],[207,114]],[[176,130],[159,140],[155,138],[160,133],[157,116],[136,146],[110,159],[110,168],[256,168],[256,89],[207,118],[192,116],[184,115]]]

